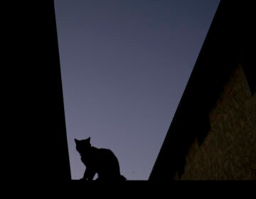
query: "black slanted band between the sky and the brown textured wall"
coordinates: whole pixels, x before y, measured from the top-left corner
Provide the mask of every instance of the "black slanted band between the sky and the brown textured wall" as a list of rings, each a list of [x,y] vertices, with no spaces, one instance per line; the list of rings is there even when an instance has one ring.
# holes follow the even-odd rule
[[[255,93],[254,8],[251,1],[220,1],[149,180],[171,180],[176,172],[183,174],[188,149],[195,139],[201,145],[206,138],[210,109],[238,63],[251,95]]]

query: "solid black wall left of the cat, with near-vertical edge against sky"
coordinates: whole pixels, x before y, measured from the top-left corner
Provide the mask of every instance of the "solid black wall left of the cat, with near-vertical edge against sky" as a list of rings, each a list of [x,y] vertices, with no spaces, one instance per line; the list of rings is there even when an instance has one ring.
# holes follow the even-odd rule
[[[4,9],[4,172],[11,181],[70,181],[53,1]]]

